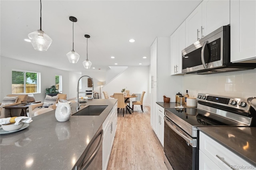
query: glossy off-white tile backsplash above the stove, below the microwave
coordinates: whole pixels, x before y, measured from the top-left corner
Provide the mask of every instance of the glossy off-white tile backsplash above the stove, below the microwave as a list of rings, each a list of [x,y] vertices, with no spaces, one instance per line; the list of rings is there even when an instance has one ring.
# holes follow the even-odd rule
[[[190,97],[198,93],[238,97],[256,97],[256,69],[210,75],[184,75],[183,93],[189,90]]]

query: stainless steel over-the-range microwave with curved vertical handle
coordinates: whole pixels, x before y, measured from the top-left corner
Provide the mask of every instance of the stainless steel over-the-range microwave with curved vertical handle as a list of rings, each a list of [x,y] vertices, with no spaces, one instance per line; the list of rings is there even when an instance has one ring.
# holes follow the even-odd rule
[[[230,62],[230,25],[182,50],[182,73],[212,74],[254,68],[255,63]]]

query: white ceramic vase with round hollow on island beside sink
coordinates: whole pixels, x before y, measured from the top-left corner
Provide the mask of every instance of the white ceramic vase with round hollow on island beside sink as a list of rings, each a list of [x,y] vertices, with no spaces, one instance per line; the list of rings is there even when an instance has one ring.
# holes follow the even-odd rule
[[[71,107],[68,101],[64,99],[58,100],[58,106],[55,110],[55,117],[59,122],[68,121],[68,119],[71,117]]]

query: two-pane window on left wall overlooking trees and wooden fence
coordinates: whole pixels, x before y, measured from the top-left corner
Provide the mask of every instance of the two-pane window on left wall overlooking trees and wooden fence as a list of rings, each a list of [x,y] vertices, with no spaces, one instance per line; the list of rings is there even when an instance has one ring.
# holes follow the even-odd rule
[[[40,93],[40,73],[12,70],[12,94]]]

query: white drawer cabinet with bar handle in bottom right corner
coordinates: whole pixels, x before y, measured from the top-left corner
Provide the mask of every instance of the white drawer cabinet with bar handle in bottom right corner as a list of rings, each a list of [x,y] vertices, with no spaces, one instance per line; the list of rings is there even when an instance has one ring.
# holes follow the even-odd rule
[[[200,154],[201,152],[201,154]],[[207,158],[206,158],[207,157]],[[226,162],[226,163],[225,163]],[[214,165],[215,164],[215,165]],[[253,167],[249,162],[230,151],[200,131],[199,134],[199,169],[248,169]],[[216,167],[216,168],[215,168]]]

